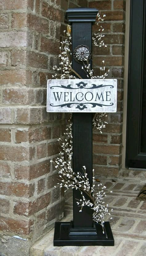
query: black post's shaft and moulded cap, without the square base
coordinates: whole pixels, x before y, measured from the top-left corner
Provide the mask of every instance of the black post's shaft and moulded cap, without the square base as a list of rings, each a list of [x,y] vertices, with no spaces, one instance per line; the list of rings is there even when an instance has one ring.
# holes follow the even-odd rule
[[[72,52],[79,45],[87,45],[92,52],[92,23],[95,22],[97,13],[96,9],[67,10],[68,21],[72,24]],[[92,61],[90,60],[89,63],[92,69]],[[87,79],[82,69],[83,64],[72,58],[72,66],[83,79]],[[73,113],[73,169],[75,173],[82,172],[85,166],[90,186],[92,186],[92,115],[92,113]],[[80,198],[80,191],[74,190],[73,226],[91,228],[93,227],[92,210],[86,206],[83,207],[82,212],[79,212],[76,199]]]

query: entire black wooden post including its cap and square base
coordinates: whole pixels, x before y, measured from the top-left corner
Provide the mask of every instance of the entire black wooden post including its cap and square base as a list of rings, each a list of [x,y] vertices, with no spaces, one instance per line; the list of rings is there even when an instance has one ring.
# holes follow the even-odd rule
[[[67,10],[67,20],[72,25],[72,52],[79,45],[86,45],[92,52],[92,23],[98,10],[95,8],[78,8]],[[92,68],[92,61],[89,61]],[[72,59],[73,69],[87,79],[82,64]],[[83,166],[92,186],[92,113],[73,113],[73,169],[82,172]],[[83,207],[79,212],[77,199],[81,198],[79,190],[73,191],[73,222],[56,222],[54,245],[114,245],[109,222],[105,222],[105,233],[100,224],[92,220],[92,210]]]

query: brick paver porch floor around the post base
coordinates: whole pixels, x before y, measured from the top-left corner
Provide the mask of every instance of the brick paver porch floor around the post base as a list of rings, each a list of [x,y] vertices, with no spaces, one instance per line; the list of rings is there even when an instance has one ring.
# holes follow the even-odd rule
[[[31,248],[31,256],[146,256],[146,201],[136,200],[142,186],[139,181],[112,179],[105,181],[107,194],[105,202],[113,208],[110,224],[115,240],[114,246],[64,246],[54,247],[54,229]],[[72,219],[72,197],[67,196],[65,219]]]

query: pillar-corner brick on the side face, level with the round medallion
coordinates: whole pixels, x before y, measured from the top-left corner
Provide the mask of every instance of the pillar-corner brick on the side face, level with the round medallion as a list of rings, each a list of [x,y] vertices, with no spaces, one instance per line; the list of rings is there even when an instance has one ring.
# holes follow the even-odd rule
[[[30,67],[47,69],[48,57],[44,54],[28,52],[27,53],[27,65]]]

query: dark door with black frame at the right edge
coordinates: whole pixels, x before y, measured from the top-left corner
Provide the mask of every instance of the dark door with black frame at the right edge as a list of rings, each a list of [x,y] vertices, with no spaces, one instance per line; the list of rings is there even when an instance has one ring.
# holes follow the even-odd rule
[[[146,169],[146,1],[131,0],[126,167]]]

